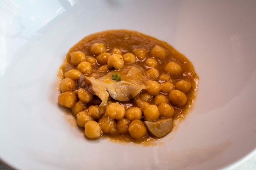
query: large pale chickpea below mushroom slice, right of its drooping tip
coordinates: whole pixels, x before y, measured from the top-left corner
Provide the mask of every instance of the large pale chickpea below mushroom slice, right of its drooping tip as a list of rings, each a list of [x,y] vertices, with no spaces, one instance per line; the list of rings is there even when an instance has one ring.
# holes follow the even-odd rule
[[[125,109],[118,102],[110,103],[106,108],[105,115],[109,116],[111,119],[120,120],[125,115]]]

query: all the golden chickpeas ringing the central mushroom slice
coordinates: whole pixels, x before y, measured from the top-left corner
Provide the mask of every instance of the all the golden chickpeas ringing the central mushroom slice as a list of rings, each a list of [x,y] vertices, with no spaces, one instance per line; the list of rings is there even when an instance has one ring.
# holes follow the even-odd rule
[[[89,47],[93,56],[85,56],[80,51],[70,53],[70,61],[74,67],[66,70],[61,80],[61,94],[58,102],[70,108],[76,115],[77,125],[84,127],[87,138],[97,139],[104,134],[128,133],[135,140],[141,140],[149,133],[143,121],[156,121],[161,118],[172,118],[175,108],[182,108],[187,103],[186,93],[191,90],[191,83],[186,80],[171,80],[172,75],[182,73],[182,66],[169,61],[159,66],[159,61],[167,57],[166,49],[155,45],[150,51],[145,48],[134,49],[122,53],[120,49],[107,49],[102,43],[94,43]],[[125,64],[144,62],[146,89],[133,101],[133,106],[126,107],[111,98],[104,114],[100,114],[101,103],[85,88],[78,87],[81,75],[90,76],[92,72],[106,73],[112,69],[121,69]],[[94,67],[98,66],[98,67]],[[160,72],[158,67],[164,67]],[[114,81],[114,80],[113,80]]]

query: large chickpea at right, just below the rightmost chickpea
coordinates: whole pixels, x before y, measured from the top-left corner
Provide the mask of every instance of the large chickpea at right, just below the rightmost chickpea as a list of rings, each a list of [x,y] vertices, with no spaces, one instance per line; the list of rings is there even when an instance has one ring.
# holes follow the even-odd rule
[[[171,104],[181,107],[187,103],[187,96],[180,90],[172,90],[168,95]]]

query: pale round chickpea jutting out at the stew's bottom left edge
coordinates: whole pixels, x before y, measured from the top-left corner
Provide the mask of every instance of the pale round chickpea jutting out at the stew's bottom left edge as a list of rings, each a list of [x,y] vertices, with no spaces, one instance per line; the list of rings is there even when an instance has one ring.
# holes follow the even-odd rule
[[[93,120],[85,123],[85,136],[91,139],[97,139],[103,134],[100,125]]]

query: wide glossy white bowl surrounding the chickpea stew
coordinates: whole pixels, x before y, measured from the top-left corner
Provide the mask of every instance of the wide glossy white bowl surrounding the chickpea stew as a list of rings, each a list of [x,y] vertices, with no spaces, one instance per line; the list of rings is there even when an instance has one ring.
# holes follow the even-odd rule
[[[220,169],[256,148],[256,1],[0,2],[0,158],[17,169]],[[137,30],[185,54],[196,105],[159,145],[87,141],[57,104],[57,70],[91,33]]]

